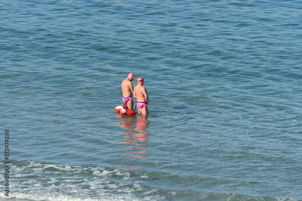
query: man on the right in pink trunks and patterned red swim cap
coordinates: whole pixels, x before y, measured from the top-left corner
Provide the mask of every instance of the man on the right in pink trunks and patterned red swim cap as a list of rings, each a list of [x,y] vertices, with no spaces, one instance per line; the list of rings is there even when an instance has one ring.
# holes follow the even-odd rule
[[[147,95],[146,87],[143,86],[144,79],[139,77],[137,79],[137,86],[134,87],[133,96],[137,98],[136,106],[138,114],[148,115],[147,104],[149,104],[149,97]]]

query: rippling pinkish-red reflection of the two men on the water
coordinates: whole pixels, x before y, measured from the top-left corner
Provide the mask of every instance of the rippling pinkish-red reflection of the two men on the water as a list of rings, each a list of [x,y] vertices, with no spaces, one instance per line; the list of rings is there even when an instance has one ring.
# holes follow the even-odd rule
[[[146,159],[146,153],[148,152],[147,128],[150,121],[147,120],[146,116],[116,116],[120,118],[120,127],[126,128],[128,131],[123,132],[124,140],[121,142],[127,144],[124,155],[133,159]]]

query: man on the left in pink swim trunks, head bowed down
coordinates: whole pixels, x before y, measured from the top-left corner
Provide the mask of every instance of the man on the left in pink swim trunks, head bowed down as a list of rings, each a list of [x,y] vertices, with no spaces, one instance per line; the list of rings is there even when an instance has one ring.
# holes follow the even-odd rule
[[[132,94],[134,92],[132,81],[134,74],[129,73],[128,77],[122,82],[123,102],[127,105],[128,109],[133,110]]]

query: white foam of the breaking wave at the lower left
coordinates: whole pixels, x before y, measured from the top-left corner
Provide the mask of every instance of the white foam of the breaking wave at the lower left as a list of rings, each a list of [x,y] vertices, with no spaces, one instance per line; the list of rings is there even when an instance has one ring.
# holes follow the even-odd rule
[[[37,163],[40,168],[36,168],[35,162],[30,164],[23,169],[12,166],[12,171],[18,169],[18,173],[10,185],[14,189],[10,198],[35,201],[149,200],[137,198],[138,192],[144,192],[140,185],[144,181],[138,180],[139,176],[131,177],[128,170],[41,163]],[[47,168],[54,169],[47,171]],[[120,193],[117,196],[115,192]]]

